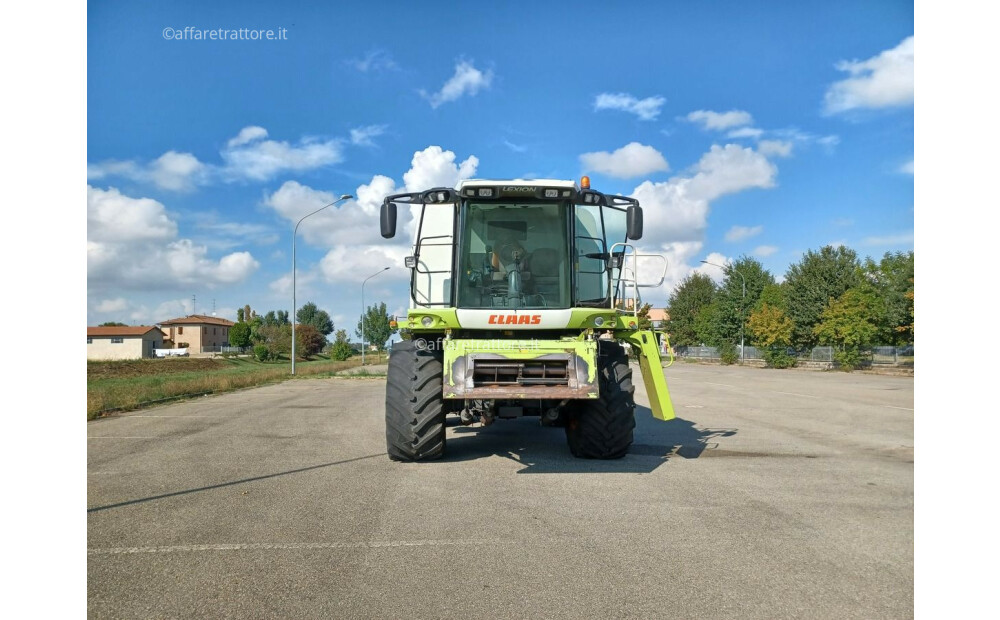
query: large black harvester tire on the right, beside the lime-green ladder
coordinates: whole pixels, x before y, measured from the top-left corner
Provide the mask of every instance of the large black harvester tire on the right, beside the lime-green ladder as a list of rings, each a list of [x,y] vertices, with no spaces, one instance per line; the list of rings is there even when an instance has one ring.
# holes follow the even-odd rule
[[[635,400],[628,356],[617,342],[597,343],[600,397],[577,401],[566,420],[566,440],[573,456],[620,459],[632,445]]]

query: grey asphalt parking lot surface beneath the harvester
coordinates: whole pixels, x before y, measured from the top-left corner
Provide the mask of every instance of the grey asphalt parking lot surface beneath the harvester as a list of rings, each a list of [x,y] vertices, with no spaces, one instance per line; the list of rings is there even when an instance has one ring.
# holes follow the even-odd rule
[[[370,378],[88,423],[88,613],[912,617],[912,378],[665,372],[617,461],[524,418],[391,462]]]

